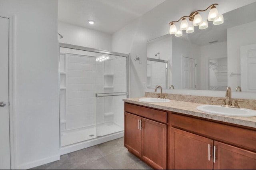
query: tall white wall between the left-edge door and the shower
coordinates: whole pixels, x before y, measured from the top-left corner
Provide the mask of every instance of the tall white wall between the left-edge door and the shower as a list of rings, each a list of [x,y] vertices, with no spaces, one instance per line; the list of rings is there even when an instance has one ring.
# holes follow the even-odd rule
[[[57,0],[0,0],[14,16],[14,169],[59,159]]]

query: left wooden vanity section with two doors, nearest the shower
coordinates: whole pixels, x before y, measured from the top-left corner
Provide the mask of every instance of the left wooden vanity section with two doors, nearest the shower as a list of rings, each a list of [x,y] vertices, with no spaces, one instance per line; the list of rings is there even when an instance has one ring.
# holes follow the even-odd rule
[[[124,103],[124,146],[155,169],[166,169],[167,112]]]

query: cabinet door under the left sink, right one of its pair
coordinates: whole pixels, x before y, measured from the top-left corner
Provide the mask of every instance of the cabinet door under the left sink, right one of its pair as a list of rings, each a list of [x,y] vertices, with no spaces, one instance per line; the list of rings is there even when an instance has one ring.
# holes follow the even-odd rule
[[[155,169],[166,169],[167,127],[142,118],[142,160]]]

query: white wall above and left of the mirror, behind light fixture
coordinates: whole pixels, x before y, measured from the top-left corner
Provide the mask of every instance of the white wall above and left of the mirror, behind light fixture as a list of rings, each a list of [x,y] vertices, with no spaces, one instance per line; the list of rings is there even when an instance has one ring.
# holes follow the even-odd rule
[[[147,41],[169,33],[169,22],[218,3],[219,13],[234,10],[255,0],[166,0],[140,18],[115,32],[112,37],[112,51],[131,53],[130,97],[144,96],[143,82],[146,82]],[[185,5],[186,4],[186,5]],[[136,55],[140,62],[134,61]]]

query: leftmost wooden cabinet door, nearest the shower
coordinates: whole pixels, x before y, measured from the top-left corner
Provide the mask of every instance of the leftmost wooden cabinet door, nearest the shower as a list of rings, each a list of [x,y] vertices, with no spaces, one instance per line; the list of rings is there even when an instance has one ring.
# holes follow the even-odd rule
[[[125,112],[124,146],[136,156],[141,156],[141,117]]]

